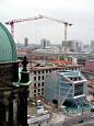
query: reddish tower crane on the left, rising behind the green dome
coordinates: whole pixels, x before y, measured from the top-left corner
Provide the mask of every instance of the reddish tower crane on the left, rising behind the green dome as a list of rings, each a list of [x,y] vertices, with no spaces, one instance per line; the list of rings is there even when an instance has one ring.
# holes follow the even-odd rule
[[[12,20],[12,21],[5,22],[5,24],[11,25],[11,34],[14,37],[14,23],[24,22],[24,21],[32,21],[32,20],[38,20],[38,19],[43,19],[43,18],[42,16],[34,16],[34,18],[27,18],[27,19]]]

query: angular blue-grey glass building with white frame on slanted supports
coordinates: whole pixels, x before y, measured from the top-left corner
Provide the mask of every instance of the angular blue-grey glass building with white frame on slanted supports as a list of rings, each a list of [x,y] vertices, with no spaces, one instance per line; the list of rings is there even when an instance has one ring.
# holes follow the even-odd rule
[[[45,78],[45,98],[59,106],[85,103],[87,80],[79,70],[55,71]]]

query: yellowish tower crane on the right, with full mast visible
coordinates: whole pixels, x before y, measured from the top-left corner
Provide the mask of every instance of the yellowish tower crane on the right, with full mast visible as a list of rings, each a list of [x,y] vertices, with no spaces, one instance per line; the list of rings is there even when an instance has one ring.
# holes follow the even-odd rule
[[[44,15],[39,15],[42,19],[47,19],[47,20],[51,20],[51,21],[56,21],[56,22],[59,22],[61,24],[64,24],[64,53],[67,53],[67,30],[68,30],[68,26],[71,26],[72,24],[71,23],[68,23],[66,21],[62,21],[62,20],[58,20],[58,19],[54,19],[54,18],[48,18],[48,16],[44,16]]]

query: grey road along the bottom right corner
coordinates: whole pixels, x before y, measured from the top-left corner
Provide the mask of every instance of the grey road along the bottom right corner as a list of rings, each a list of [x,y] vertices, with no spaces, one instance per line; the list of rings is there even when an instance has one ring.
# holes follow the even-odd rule
[[[66,122],[59,122],[56,124],[50,123],[40,123],[40,126],[94,126],[94,118],[91,118],[93,114],[85,114],[78,117],[73,117],[70,119],[67,119]],[[81,123],[81,121],[83,121]],[[31,125],[30,125],[31,126]],[[33,125],[32,125],[33,126]],[[34,124],[34,126],[38,126],[38,124]]]

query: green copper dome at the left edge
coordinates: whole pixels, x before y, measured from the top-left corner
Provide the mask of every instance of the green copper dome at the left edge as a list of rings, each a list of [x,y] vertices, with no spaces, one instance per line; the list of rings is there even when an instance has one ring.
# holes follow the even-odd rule
[[[16,60],[16,47],[13,37],[7,27],[0,23],[0,62]]]

